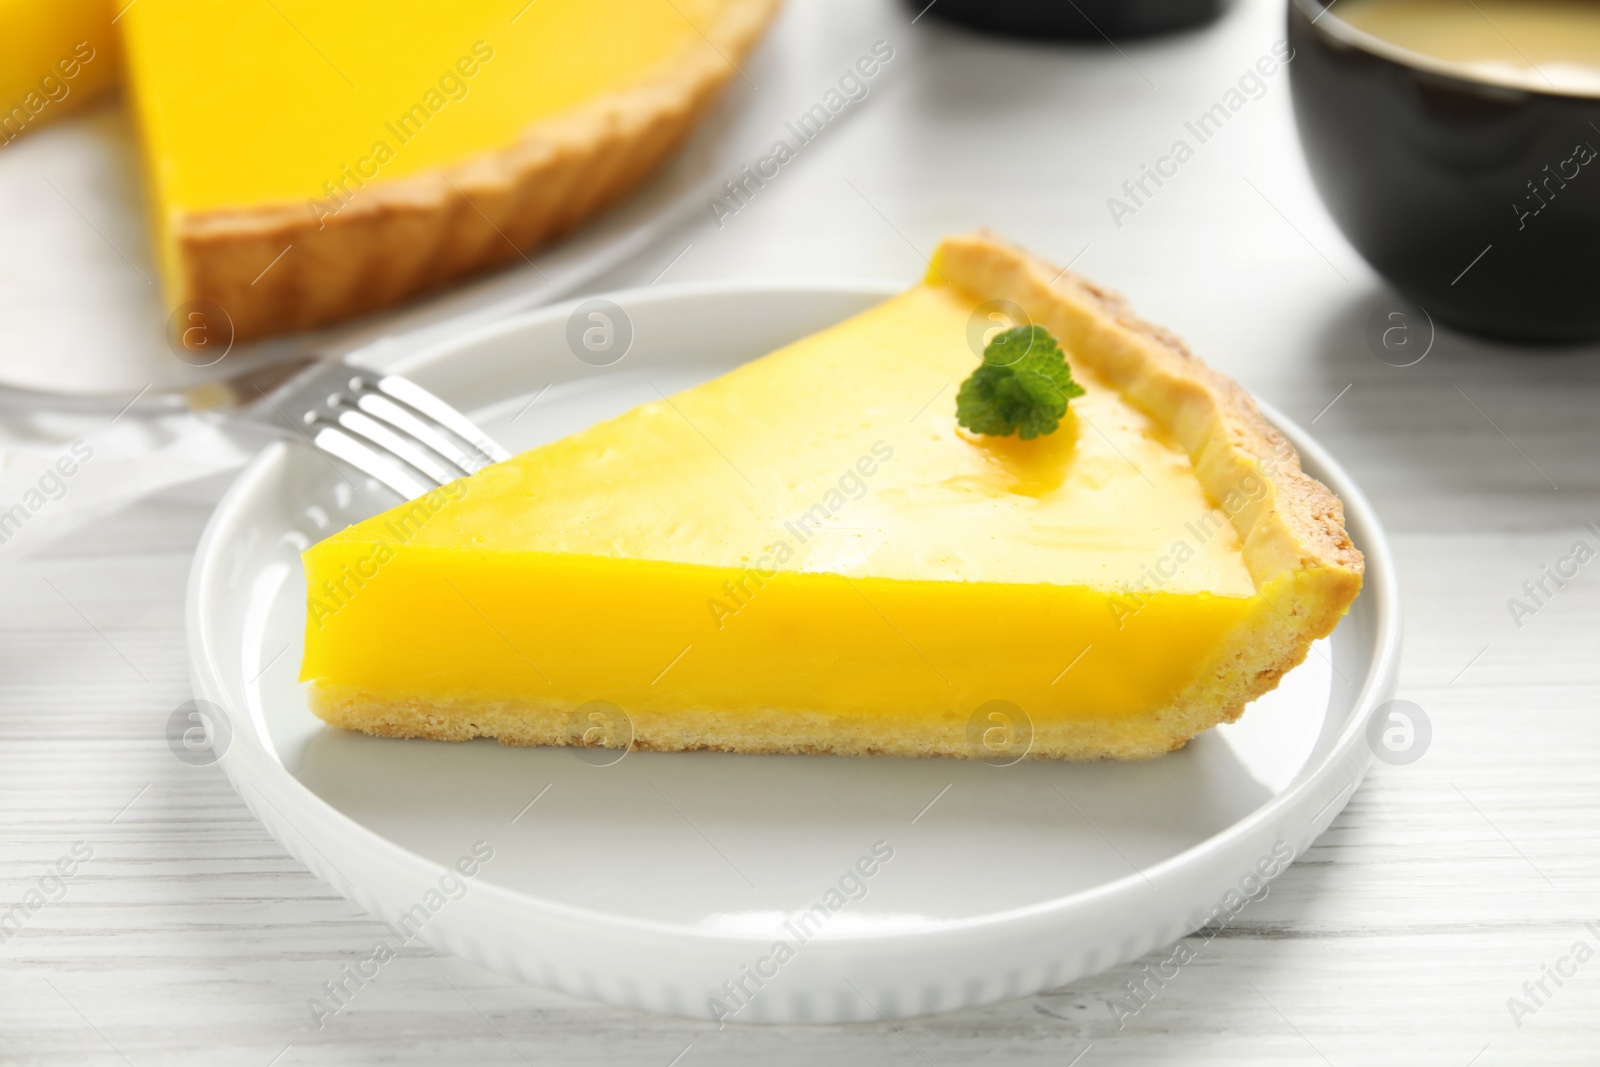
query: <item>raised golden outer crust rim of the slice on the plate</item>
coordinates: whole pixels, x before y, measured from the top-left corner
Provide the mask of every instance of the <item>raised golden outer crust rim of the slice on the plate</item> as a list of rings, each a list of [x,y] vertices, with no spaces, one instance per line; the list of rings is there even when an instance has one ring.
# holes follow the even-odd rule
[[[1242,386],[1134,315],[1122,296],[987,230],[942,242],[930,280],[1008,299],[1050,328],[1070,360],[1083,360],[1166,426],[1206,493],[1224,502],[1218,510],[1238,534],[1262,605],[1155,720],[1170,747],[1235,721],[1333,632],[1360,593],[1365,561],[1344,528],[1344,504],[1301,469],[1299,454]]]

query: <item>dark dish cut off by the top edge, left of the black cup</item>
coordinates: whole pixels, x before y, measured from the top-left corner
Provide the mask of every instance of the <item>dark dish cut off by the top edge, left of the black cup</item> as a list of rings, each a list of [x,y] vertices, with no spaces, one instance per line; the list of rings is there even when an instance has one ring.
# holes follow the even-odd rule
[[[1210,22],[1232,0],[907,0],[930,18],[1029,38],[1149,37]]]

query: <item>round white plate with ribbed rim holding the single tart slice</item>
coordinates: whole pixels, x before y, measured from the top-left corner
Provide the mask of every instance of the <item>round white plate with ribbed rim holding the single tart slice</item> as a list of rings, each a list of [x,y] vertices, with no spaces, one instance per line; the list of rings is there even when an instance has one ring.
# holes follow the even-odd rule
[[[424,352],[405,373],[528,448],[886,294],[638,290],[611,296],[634,330],[613,366],[571,355],[562,306]],[[230,709],[221,763],[250,808],[312,872],[392,923],[390,947],[418,936],[653,1011],[710,1017],[720,1001],[733,1022],[898,1017],[1024,995],[1166,945],[1259,893],[1258,872],[1304,853],[1368,766],[1363,726],[1392,696],[1398,659],[1389,549],[1346,474],[1269,418],[1344,498],[1366,589],[1275,693],[1162,760],[998,768],[634,752],[598,766],[598,750],[326,728],[294,680],[298,552],[386,502],[352,493],[299,445],[261,454],[200,544],[195,691]],[[474,848],[493,857],[475,862]],[[472,877],[453,873],[462,859]],[[858,864],[870,877],[853,877]],[[749,997],[733,992],[741,985]]]

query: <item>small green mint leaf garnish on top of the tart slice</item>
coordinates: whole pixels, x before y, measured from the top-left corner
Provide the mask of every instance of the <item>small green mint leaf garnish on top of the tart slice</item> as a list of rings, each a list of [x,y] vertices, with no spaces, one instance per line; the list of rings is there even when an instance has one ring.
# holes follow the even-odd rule
[[[955,394],[955,421],[973,434],[1022,440],[1054,434],[1067,402],[1083,395],[1061,346],[1043,326],[1013,326],[984,347],[984,362]]]

